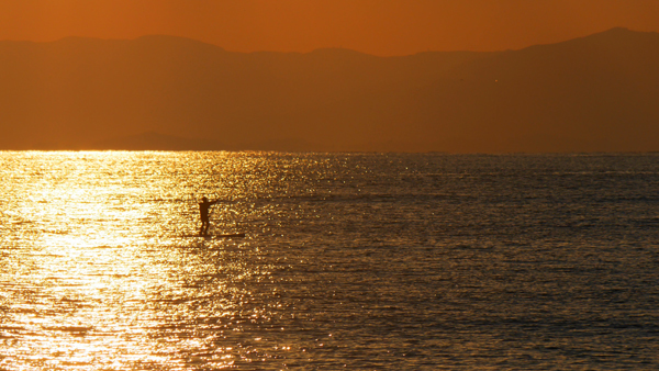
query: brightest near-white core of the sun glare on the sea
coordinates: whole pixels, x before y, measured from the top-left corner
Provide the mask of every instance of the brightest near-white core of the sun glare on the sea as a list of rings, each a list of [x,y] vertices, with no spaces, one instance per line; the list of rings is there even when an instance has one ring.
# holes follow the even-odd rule
[[[141,173],[134,169],[122,169],[126,160],[144,154],[69,151],[25,155],[37,162],[43,161],[36,164],[37,170],[33,173],[21,175],[29,178],[25,182],[29,196],[21,216],[38,228],[38,245],[43,247],[33,256],[40,268],[38,280],[42,281],[43,292],[38,301],[44,308],[49,306],[48,302],[55,301],[60,303],[59,306],[70,306],[72,312],[64,316],[36,318],[27,312],[15,319],[31,324],[34,334],[43,334],[35,335],[34,344],[38,347],[56,348],[56,356],[75,353],[68,358],[69,364],[89,362],[94,355],[113,353],[116,349],[112,348],[116,345],[125,348],[126,341],[121,338],[108,345],[98,340],[80,341],[77,335],[94,331],[113,337],[130,333],[130,326],[113,319],[114,316],[127,316],[126,319],[133,324],[145,321],[136,308],[148,299],[153,282],[141,277],[143,271],[156,272],[148,257],[141,256],[144,254],[137,247],[154,238],[145,236],[135,225],[148,221],[154,205],[144,204],[144,199],[150,196],[150,189],[139,178]],[[78,167],[70,166],[70,162]],[[163,217],[167,209],[161,207],[157,212]],[[172,216],[168,215],[168,218]],[[132,266],[123,261],[132,261]],[[129,307],[122,310],[126,303]],[[63,336],[66,334],[71,336]],[[158,363],[167,358],[148,356],[146,350],[138,353],[136,358],[141,362]],[[47,363],[58,364],[57,359]]]

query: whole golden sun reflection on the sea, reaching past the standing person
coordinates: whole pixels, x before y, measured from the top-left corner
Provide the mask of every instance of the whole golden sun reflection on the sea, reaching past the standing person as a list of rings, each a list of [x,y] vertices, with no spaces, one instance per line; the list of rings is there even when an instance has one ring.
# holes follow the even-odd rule
[[[267,224],[271,206],[255,205],[287,187],[263,176],[277,166],[267,156],[2,153],[0,162],[0,364],[221,368],[290,349],[250,331],[277,306],[249,286],[277,268],[252,241],[267,228],[241,224]],[[226,201],[215,232],[247,238],[193,237],[201,195]]]

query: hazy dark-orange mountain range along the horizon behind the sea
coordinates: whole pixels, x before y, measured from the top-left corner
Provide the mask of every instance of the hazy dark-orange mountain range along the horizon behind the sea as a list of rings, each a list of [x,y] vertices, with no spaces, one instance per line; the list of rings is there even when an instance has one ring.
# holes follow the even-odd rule
[[[0,149],[659,150],[659,34],[498,53],[0,42]]]

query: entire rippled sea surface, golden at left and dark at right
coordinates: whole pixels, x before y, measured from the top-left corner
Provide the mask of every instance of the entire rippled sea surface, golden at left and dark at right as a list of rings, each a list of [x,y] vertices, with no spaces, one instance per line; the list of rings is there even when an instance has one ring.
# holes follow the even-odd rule
[[[0,180],[0,370],[659,369],[659,155],[5,151]],[[196,237],[202,195],[246,237]]]

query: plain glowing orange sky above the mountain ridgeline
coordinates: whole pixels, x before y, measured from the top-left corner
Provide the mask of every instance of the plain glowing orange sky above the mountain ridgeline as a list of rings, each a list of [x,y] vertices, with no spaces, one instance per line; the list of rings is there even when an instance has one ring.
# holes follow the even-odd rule
[[[501,50],[625,26],[658,0],[0,0],[0,40],[190,37],[232,52]]]

